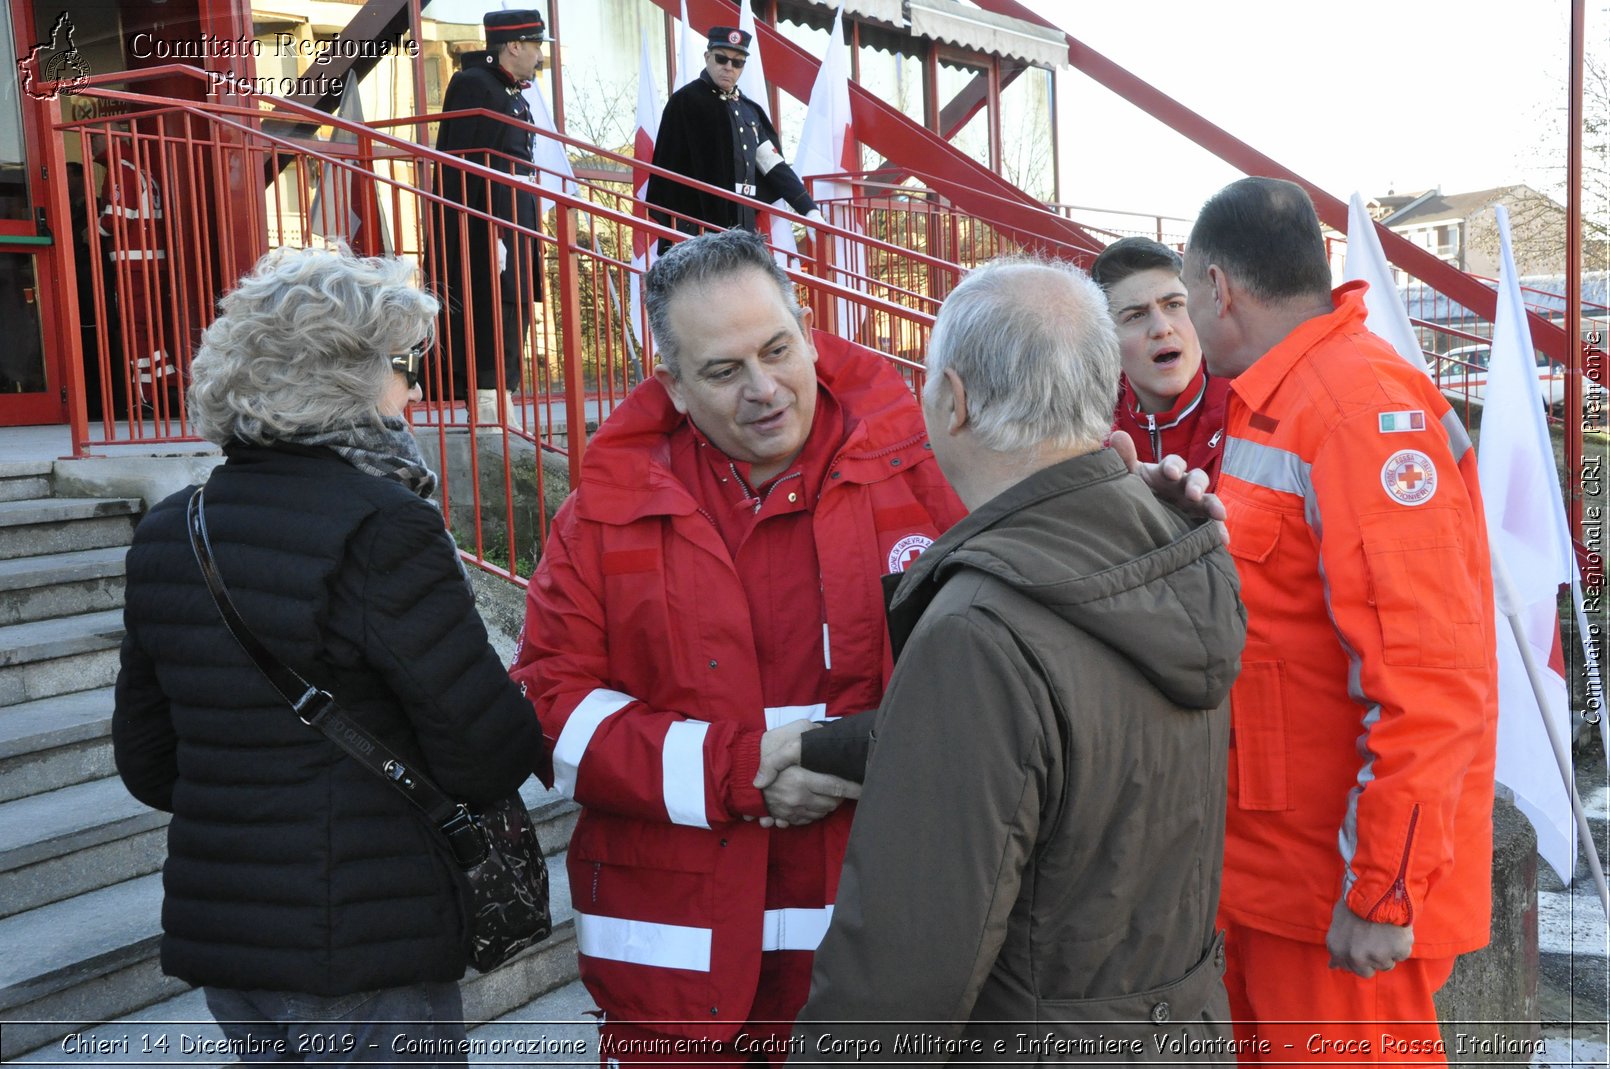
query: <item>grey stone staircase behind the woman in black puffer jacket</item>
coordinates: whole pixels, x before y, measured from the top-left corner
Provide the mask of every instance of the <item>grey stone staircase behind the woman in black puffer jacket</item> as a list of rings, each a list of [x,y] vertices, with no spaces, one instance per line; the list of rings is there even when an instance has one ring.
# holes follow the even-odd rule
[[[124,554],[143,506],[53,497],[52,468],[0,464],[0,1059],[198,1064],[179,1056],[185,1037],[222,1034],[158,963],[167,815],[129,797],[111,757]],[[575,805],[535,779],[522,794],[551,855],[555,931],[467,977],[472,1022],[576,977],[560,853]]]

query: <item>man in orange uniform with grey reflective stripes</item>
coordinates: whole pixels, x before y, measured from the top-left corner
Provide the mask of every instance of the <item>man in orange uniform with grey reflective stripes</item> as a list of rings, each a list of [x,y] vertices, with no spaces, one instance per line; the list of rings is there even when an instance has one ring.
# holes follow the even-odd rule
[[[1243,1061],[1446,1063],[1431,997],[1488,942],[1497,723],[1476,457],[1331,293],[1319,219],[1243,179],[1185,253],[1235,378],[1219,477],[1248,636],[1220,921]],[[1251,1056],[1249,1056],[1251,1051]]]

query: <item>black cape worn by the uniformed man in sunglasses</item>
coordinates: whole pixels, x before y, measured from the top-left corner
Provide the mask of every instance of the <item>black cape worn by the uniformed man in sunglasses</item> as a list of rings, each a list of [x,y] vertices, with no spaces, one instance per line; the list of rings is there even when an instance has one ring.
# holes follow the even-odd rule
[[[786,200],[802,216],[816,208],[805,184],[787,163],[760,174],[755,150],[763,140],[771,142],[778,153],[782,151],[765,108],[742,93],[724,100],[708,72],[700,72],[667,101],[654,143],[654,164],[766,203]],[[657,174],[649,177],[646,200],[655,208],[702,219],[712,227],[755,229],[753,209]],[[658,213],[655,221],[689,232],[696,229],[686,222],[671,224]]]

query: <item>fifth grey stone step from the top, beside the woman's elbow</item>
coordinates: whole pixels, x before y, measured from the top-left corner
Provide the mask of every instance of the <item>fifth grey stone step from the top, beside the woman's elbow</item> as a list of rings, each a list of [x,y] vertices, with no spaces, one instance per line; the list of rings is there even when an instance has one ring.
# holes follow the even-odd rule
[[[114,773],[113,689],[0,707],[0,802]]]

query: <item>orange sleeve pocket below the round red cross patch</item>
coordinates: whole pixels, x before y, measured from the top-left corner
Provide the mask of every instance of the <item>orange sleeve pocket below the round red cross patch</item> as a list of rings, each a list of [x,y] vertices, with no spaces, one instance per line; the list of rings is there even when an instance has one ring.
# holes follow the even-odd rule
[[[1484,609],[1480,583],[1454,570],[1468,565],[1454,509],[1378,512],[1359,518],[1370,601],[1388,665],[1481,668]]]

